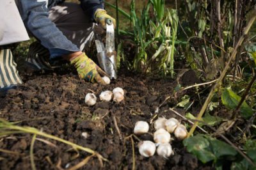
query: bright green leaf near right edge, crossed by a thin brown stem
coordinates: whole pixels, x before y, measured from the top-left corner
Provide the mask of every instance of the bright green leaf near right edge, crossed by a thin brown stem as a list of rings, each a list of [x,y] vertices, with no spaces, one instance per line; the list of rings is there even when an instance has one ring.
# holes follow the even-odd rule
[[[241,97],[236,95],[236,93],[234,93],[231,88],[225,88],[223,90],[221,95],[221,101],[223,105],[225,105],[225,107],[227,107],[228,109],[236,109],[240,100]],[[252,109],[248,104],[246,104],[246,102],[243,102],[243,104],[241,105],[240,112],[241,116],[243,116],[244,118],[250,118],[250,116],[252,116],[253,114]]]

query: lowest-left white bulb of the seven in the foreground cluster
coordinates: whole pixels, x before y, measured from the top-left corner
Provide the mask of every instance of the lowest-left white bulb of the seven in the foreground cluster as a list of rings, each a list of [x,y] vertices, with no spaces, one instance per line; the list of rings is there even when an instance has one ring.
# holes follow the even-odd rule
[[[139,151],[143,157],[151,157],[156,152],[156,145],[151,141],[142,141],[139,143]]]

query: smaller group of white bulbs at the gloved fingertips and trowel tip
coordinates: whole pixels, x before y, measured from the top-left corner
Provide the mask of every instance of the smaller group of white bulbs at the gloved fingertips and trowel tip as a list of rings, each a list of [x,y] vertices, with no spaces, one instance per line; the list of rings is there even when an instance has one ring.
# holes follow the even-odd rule
[[[108,77],[103,77],[104,81],[106,83],[110,83],[110,79]],[[106,79],[106,80],[105,80]],[[124,89],[122,88],[115,88],[113,91],[107,90],[107,91],[102,91],[99,95],[100,101],[103,102],[109,102],[113,99],[114,102],[121,102],[124,100]],[[97,97],[93,93],[87,93],[84,102],[88,106],[95,105],[97,102]]]

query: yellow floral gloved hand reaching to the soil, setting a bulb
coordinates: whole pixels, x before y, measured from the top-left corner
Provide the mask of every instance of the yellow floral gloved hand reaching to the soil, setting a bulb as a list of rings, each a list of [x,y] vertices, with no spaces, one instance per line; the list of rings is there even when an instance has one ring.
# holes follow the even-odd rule
[[[108,76],[108,74],[101,70],[84,52],[72,59],[71,64],[76,66],[77,73],[81,79],[85,79],[88,82],[96,81],[102,85],[106,84],[100,75]]]

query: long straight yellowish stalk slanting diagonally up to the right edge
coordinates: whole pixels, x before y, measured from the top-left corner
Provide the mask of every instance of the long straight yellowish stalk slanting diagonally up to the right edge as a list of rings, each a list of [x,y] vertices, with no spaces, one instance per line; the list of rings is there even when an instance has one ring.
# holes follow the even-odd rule
[[[256,10],[254,10],[254,13],[256,13]],[[232,63],[232,61],[236,58],[236,54],[237,54],[237,49],[242,45],[243,41],[244,41],[244,38],[245,36],[248,34],[250,28],[252,27],[253,25],[253,22],[255,21],[256,19],[256,15],[253,15],[252,19],[250,19],[250,21],[248,22],[246,28],[244,29],[244,33],[243,35],[241,36],[241,38],[239,39],[239,41],[237,42],[237,45],[236,45],[236,48],[232,51],[232,54],[230,56],[230,58],[228,59],[228,63],[227,65],[225,66],[223,72],[221,73],[218,81],[216,82],[216,84],[212,87],[207,99],[205,100],[204,102],[204,105],[202,107],[202,109],[200,110],[196,120],[201,120],[205,110],[207,109],[207,106],[209,104],[209,102],[211,102],[211,99],[214,95],[214,92],[216,91],[216,89],[218,89],[218,87],[220,86],[221,82],[223,81],[228,69],[230,68],[230,65]],[[188,133],[188,137],[193,134],[193,132],[195,131],[195,128],[196,126],[198,125],[198,121],[195,122],[195,124],[193,125],[193,127],[191,128],[191,130],[189,131]]]

